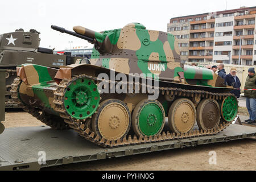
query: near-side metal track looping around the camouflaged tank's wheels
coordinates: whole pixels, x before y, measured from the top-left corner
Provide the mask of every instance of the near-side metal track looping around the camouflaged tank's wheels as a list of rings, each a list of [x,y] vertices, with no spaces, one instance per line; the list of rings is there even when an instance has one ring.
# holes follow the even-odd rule
[[[97,84],[101,81],[107,82],[110,85],[116,84],[116,82],[112,82],[109,80],[98,80],[96,77],[87,76],[87,75],[77,75],[73,77],[72,81],[79,77],[86,77],[91,80],[94,80],[94,82],[97,82]],[[207,135],[214,135],[219,133],[220,131],[224,130],[226,127],[230,125],[232,122],[226,122],[224,119],[221,119],[220,124],[215,127],[212,130],[193,130],[188,133],[181,133],[181,134],[175,134],[170,133],[169,131],[162,132],[161,134],[154,136],[154,137],[139,137],[137,138],[136,135],[132,137],[129,135],[128,137],[125,137],[123,139],[118,140],[106,140],[104,138],[101,138],[99,135],[95,134],[91,127],[89,127],[88,123],[90,122],[90,118],[87,119],[76,119],[71,117],[67,113],[67,110],[64,106],[64,93],[65,89],[67,88],[69,84],[69,80],[62,80],[59,84],[59,86],[56,89],[55,94],[55,100],[53,103],[55,104],[55,111],[57,111],[64,119],[64,122],[69,125],[72,129],[74,129],[81,137],[84,137],[86,140],[89,140],[90,142],[96,143],[102,147],[121,147],[121,146],[129,146],[129,145],[135,145],[135,144],[142,144],[142,143],[154,143],[154,142],[164,142],[167,140],[176,140],[176,139],[183,139],[183,138],[192,138],[192,137],[202,137]],[[128,83],[128,82],[127,82]],[[141,87],[142,88],[142,87]],[[222,100],[226,96],[233,96],[231,93],[211,93],[206,92],[204,90],[185,90],[185,89],[178,89],[178,88],[159,88],[160,94],[175,94],[175,96],[183,96],[183,97],[194,97],[194,96],[200,96],[202,98],[212,98],[216,100]]]

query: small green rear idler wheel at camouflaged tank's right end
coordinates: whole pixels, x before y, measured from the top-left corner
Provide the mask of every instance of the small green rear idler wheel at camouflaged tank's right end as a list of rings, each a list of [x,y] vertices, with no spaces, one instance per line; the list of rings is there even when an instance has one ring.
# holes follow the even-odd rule
[[[237,99],[234,96],[227,96],[221,104],[221,115],[225,121],[231,122],[236,118],[238,111]]]

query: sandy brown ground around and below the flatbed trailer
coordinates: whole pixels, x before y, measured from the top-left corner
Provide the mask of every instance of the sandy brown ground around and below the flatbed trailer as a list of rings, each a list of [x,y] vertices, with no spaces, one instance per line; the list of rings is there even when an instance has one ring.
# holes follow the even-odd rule
[[[242,113],[246,115],[246,110],[241,111],[240,114]],[[241,120],[244,121],[247,116],[242,118]],[[3,124],[6,128],[44,125],[30,114],[20,110],[8,111],[6,121]],[[253,127],[256,127],[256,125]],[[208,162],[210,151],[215,151],[217,154],[216,165],[210,165]],[[255,154],[256,140],[254,138],[123,158],[68,164],[44,170],[256,170]]]

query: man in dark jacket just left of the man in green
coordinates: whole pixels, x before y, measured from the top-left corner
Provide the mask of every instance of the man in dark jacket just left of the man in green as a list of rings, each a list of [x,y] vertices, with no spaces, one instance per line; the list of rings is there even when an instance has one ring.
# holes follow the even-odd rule
[[[229,75],[226,75],[225,77],[225,84],[229,86],[233,86],[236,89],[240,89],[241,82],[239,78],[237,77],[237,68],[231,68]],[[235,94],[237,98],[240,97],[240,90],[232,90],[230,93]]]

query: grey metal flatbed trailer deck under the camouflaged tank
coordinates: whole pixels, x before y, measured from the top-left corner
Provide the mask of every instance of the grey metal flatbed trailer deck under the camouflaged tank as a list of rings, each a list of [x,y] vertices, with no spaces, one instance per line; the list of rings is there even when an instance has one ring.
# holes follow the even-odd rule
[[[184,148],[200,144],[228,142],[256,137],[256,127],[232,124],[217,135],[104,148],[80,137],[73,130],[52,130],[47,126],[6,129],[0,135],[0,170],[39,170],[43,167],[88,162],[147,152]],[[46,154],[46,163],[38,159]]]

